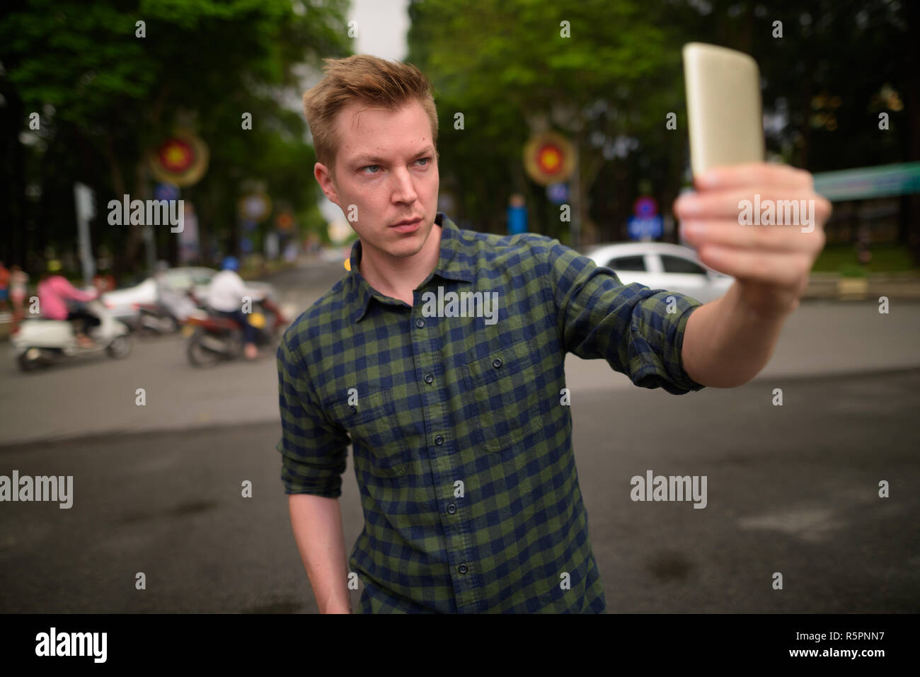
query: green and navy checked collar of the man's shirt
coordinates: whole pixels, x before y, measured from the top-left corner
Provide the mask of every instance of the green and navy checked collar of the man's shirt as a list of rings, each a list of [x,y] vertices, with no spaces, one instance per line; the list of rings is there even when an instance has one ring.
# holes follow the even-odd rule
[[[441,256],[438,258],[438,265],[419,287],[427,284],[434,275],[439,275],[445,280],[472,282],[472,263],[475,258],[468,255],[468,245],[463,240],[457,224],[454,224],[444,212],[437,212],[434,223],[441,226]],[[346,304],[351,322],[361,321],[367,313],[371,299],[384,302],[384,299],[388,298],[374,290],[358,270],[361,255],[361,240],[358,240],[351,246],[351,271],[346,277]]]

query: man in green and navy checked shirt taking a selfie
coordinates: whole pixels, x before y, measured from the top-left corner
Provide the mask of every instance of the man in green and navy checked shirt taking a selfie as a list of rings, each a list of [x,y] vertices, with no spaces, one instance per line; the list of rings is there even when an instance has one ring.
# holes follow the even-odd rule
[[[320,612],[351,612],[351,572],[365,613],[604,612],[565,353],[673,394],[746,383],[824,238],[741,226],[738,203],[814,200],[819,224],[829,204],[786,166],[700,177],[675,213],[702,260],[738,279],[702,305],[623,285],[544,235],[461,230],[436,212],[437,118],[413,66],[330,60],[304,99],[314,176],[359,235],[351,270],[278,350],[282,482]],[[365,523],[346,561],[349,442]]]

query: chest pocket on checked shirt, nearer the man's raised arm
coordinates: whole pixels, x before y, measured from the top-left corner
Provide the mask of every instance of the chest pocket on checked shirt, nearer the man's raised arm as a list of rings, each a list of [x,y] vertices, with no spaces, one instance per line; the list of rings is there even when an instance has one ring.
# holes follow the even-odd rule
[[[539,356],[527,340],[492,349],[465,366],[479,414],[479,442],[489,452],[504,451],[540,429]]]

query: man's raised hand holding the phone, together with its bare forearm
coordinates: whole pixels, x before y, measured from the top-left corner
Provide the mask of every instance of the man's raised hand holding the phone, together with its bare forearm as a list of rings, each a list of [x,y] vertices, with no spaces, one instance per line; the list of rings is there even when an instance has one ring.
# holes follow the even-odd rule
[[[729,388],[773,354],[824,247],[831,204],[808,172],[765,163],[712,169],[696,189],[674,202],[684,238],[703,263],[737,281],[690,315],[681,359],[696,383]]]

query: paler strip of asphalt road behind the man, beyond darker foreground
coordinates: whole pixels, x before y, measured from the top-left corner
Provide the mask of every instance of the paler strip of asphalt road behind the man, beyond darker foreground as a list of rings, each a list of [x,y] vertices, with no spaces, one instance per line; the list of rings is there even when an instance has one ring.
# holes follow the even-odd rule
[[[343,273],[340,264],[317,263],[270,281],[282,302],[306,309]],[[788,377],[920,367],[920,304],[892,301],[887,315],[878,307],[871,302],[802,304],[759,378],[778,385]],[[263,350],[260,361],[201,371],[189,366],[185,348],[178,336],[136,340],[124,360],[99,355],[28,374],[7,355],[0,360],[0,444],[278,419],[272,350]],[[0,344],[0,357],[6,350]],[[576,398],[634,389],[623,374],[572,355],[566,374]],[[137,406],[138,388],[144,388],[143,407]]]

